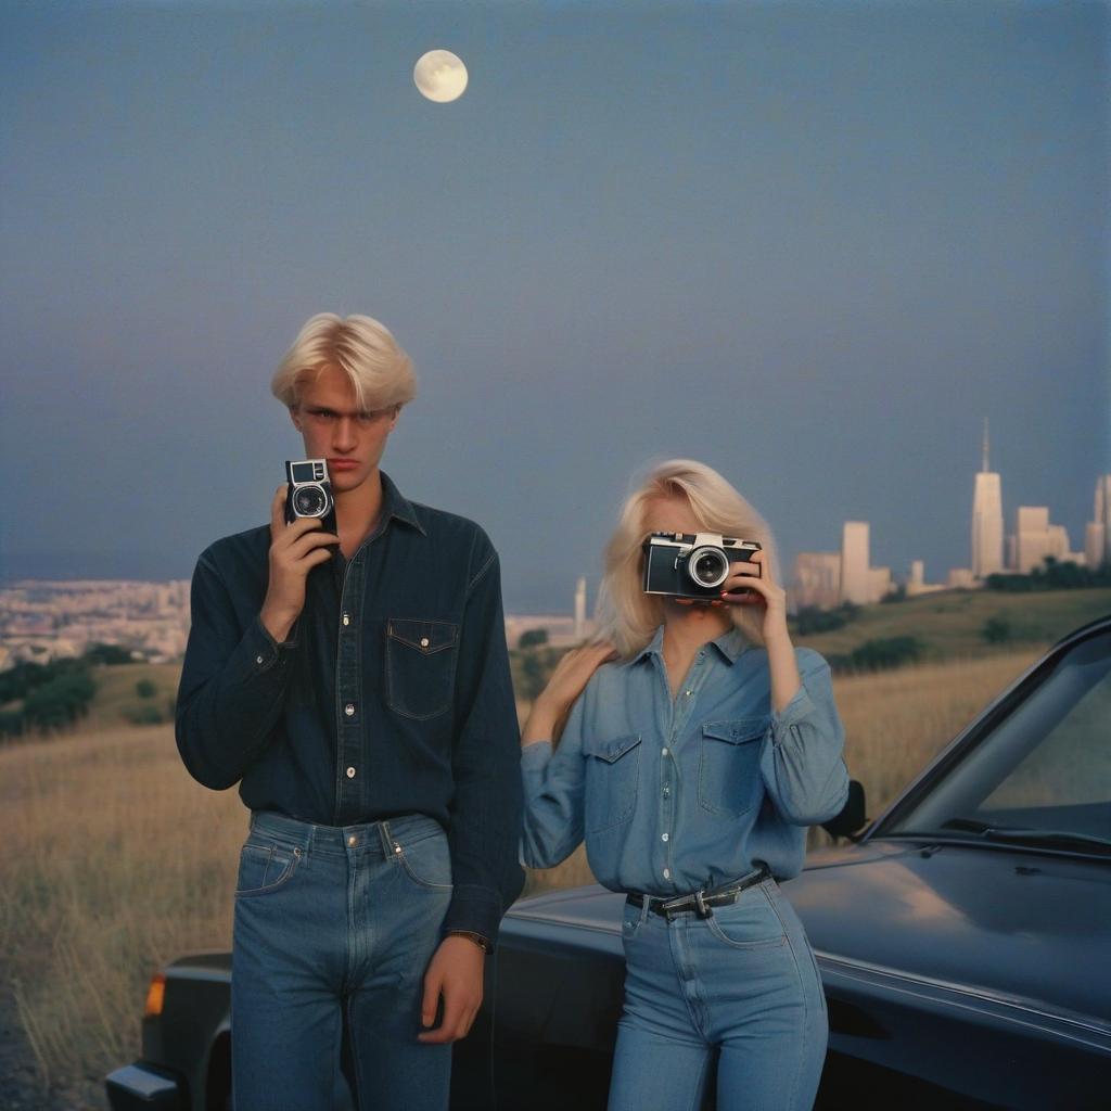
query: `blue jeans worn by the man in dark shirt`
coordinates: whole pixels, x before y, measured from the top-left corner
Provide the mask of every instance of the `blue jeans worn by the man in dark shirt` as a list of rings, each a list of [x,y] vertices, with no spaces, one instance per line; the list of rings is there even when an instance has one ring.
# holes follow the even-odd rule
[[[450,900],[431,818],[339,828],[254,812],[232,941],[236,1111],[332,1111],[344,1019],[359,1111],[443,1111],[451,1045],[417,1034]]]

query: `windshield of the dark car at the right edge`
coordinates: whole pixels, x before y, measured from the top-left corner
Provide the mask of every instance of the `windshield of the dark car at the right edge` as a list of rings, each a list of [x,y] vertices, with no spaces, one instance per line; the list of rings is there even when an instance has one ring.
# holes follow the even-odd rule
[[[1111,853],[1111,632],[1078,643],[879,835]]]

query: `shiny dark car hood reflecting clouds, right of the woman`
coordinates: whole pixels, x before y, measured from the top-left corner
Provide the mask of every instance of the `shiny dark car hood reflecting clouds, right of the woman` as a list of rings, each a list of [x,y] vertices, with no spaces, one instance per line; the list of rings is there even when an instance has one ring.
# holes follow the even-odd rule
[[[783,884],[820,958],[1111,1018],[1111,865],[965,844],[811,854]]]

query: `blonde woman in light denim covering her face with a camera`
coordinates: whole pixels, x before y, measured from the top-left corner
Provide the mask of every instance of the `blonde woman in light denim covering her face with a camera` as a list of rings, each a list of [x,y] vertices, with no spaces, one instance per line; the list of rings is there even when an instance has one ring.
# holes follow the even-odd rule
[[[652,532],[762,550],[692,602],[644,592]],[[697,1109],[714,1064],[719,1111],[801,1111],[818,1090],[825,1003],[777,880],[849,779],[829,667],[792,645],[774,569],[767,524],[717,471],[657,467],[607,550],[602,642],[563,658],[524,725],[526,863],[585,840],[599,882],[628,893],[610,1111]]]

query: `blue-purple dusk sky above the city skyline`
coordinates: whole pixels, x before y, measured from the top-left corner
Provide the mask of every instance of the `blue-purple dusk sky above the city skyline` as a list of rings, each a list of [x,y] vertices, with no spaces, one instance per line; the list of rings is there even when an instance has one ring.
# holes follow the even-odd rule
[[[321,310],[420,392],[408,497],[570,609],[631,474],[702,459],[783,571],[970,561],[984,417],[1083,547],[1111,471],[1101,3],[0,0],[0,579],[186,578],[300,452]],[[424,100],[447,48],[470,84]]]

